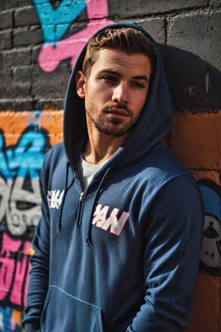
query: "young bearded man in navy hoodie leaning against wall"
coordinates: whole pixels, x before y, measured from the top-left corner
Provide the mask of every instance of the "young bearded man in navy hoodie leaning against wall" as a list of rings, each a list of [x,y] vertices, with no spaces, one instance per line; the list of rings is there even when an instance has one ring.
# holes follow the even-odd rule
[[[167,151],[173,109],[155,42],[100,30],[70,77],[64,144],[41,172],[26,332],[177,332],[188,324],[203,212]]]

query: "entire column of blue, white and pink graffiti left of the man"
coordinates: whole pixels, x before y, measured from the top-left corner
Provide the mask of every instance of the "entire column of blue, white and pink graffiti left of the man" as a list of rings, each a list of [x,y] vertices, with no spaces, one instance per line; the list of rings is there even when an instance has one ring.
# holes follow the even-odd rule
[[[15,145],[6,146],[0,131],[0,331],[21,331],[30,242],[41,214],[39,172],[50,147],[41,115],[28,113]]]

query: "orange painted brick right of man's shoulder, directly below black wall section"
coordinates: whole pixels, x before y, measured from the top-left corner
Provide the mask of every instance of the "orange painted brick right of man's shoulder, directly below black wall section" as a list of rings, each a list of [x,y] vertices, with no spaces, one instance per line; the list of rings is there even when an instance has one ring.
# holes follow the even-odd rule
[[[221,112],[176,114],[171,150],[191,169],[220,170],[220,128]]]

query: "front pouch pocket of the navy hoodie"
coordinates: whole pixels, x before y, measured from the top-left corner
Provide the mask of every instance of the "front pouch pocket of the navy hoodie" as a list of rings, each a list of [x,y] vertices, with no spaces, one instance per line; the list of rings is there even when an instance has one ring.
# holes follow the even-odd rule
[[[41,332],[103,332],[102,310],[50,286],[41,316]]]

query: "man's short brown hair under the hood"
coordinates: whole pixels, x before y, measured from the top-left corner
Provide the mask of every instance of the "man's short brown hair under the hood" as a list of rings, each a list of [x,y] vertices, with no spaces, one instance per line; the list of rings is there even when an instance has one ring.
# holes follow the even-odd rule
[[[153,71],[155,45],[142,31],[131,27],[106,28],[89,39],[83,63],[86,76],[90,75],[90,68],[96,62],[99,50],[105,48],[122,50],[130,55],[146,55],[150,59]]]

